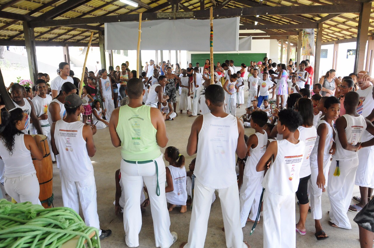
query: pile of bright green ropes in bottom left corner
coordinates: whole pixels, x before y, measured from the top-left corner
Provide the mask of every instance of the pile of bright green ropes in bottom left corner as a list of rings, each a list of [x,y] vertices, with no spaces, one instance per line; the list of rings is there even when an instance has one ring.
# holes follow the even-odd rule
[[[89,238],[92,232],[95,236]],[[71,208],[0,199],[0,248],[60,248],[77,236],[76,248],[100,248],[99,230],[86,226]]]

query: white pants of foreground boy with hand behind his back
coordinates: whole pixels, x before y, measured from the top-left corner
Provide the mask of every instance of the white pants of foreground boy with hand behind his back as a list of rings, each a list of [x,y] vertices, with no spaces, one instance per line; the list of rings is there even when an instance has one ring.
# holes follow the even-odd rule
[[[281,196],[265,190],[263,203],[264,248],[295,248],[295,193]]]

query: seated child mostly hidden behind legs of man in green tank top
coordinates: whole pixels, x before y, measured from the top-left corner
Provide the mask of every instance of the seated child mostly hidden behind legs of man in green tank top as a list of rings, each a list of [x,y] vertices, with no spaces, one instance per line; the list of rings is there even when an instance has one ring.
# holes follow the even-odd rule
[[[123,213],[123,206],[125,206],[125,195],[124,190],[122,190],[122,179],[121,179],[121,171],[120,169],[116,170],[116,200],[113,202],[115,205],[114,208],[114,214],[118,215],[119,213]],[[146,188],[144,187],[146,190]],[[140,195],[140,208],[141,211],[145,211],[145,207],[147,207],[150,204],[149,196],[147,199],[145,199],[144,191],[141,189],[141,195]]]

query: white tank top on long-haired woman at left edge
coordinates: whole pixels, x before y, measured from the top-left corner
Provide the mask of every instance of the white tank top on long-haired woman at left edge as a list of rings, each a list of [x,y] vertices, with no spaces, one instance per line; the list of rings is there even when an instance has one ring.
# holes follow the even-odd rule
[[[24,135],[16,134],[14,136],[12,154],[9,154],[2,140],[0,142],[0,156],[5,164],[4,176],[8,178],[36,173],[33,160],[31,159],[31,152],[25,145]]]

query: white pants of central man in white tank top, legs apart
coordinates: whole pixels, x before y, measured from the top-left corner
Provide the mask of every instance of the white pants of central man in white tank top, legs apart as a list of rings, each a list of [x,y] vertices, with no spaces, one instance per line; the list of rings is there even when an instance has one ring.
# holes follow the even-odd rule
[[[188,233],[188,243],[184,245],[184,248],[204,247],[212,204],[211,199],[215,190],[202,185],[199,180],[195,180],[190,231]],[[243,231],[240,227],[237,183],[227,188],[217,189],[217,191],[221,200],[227,248],[247,248],[243,242]]]

